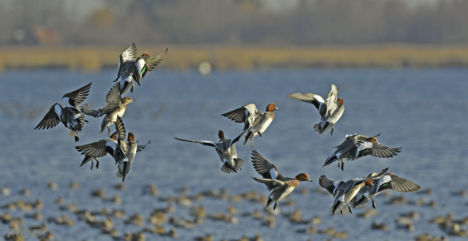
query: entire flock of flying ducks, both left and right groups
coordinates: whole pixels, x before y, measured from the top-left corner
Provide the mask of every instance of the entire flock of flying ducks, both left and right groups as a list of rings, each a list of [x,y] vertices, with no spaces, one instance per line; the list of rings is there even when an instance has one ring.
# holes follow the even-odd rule
[[[137,152],[144,149],[146,145],[138,145],[138,141],[134,140],[132,132],[126,135],[122,116],[126,110],[126,105],[134,103],[134,100],[129,96],[122,97],[128,90],[133,93],[134,82],[141,86],[141,80],[145,77],[146,73],[152,71],[154,66],[158,65],[163,57],[167,54],[167,49],[164,53],[156,57],[150,57],[144,53],[140,57],[135,58],[136,46],[133,43],[130,48],[119,55],[119,64],[117,71],[117,79],[114,80],[115,85],[110,89],[106,95],[106,104],[97,110],[91,110],[88,104],[78,106],[86,99],[91,84],[79,88],[71,93],[66,93],[62,99],[66,102],[65,108],[56,103],[52,105],[51,109],[47,112],[45,117],[36,126],[35,129],[52,128],[62,122],[68,129],[70,129],[69,136],[75,138],[75,142],[79,140],[78,134],[82,130],[84,124],[88,122],[85,120],[84,115],[92,117],[102,117],[100,134],[108,129],[109,138],[101,139],[99,141],[76,146],[75,148],[84,155],[80,167],[91,161],[91,169],[96,161],[96,168],[99,168],[98,159],[107,155],[108,153],[114,158],[117,165],[117,178],[125,180],[126,175],[130,172],[130,167],[135,159]],[[344,112],[343,99],[337,98],[338,87],[331,85],[331,90],[324,100],[320,95],[308,93],[289,94],[288,97],[303,102],[313,104],[319,111],[320,122],[314,125],[314,131],[319,135],[324,134],[331,129],[330,134],[333,135],[335,129],[334,125],[340,119]],[[244,160],[238,158],[235,149],[235,143],[241,139],[245,134],[243,146],[250,140],[250,145],[254,146],[254,138],[256,136],[262,137],[263,132],[273,121],[275,114],[273,111],[278,110],[274,103],[270,103],[266,107],[265,112],[257,110],[256,105],[251,103],[243,105],[232,111],[221,114],[233,120],[236,123],[244,124],[242,131],[235,135],[232,139],[227,139],[222,130],[218,132],[219,142],[206,141],[206,140],[189,140],[179,139],[181,141],[196,142],[205,146],[212,146],[216,148],[219,159],[223,162],[221,171],[227,174],[237,173],[241,170]],[[110,134],[110,125],[114,124],[116,131]],[[380,134],[379,134],[380,135]],[[397,155],[402,147],[392,148],[382,146],[378,141],[376,135],[374,137],[366,137],[363,135],[346,135],[344,142],[336,146],[336,151],[332,153],[323,166],[327,166],[335,161],[338,161],[338,167],[344,170],[344,159],[347,161],[356,160],[367,155],[372,155],[380,158],[388,158]],[[127,139],[125,140],[125,137]],[[299,186],[301,181],[310,181],[306,173],[300,173],[294,178],[285,177],[281,175],[275,165],[267,161],[256,150],[252,151],[252,164],[258,174],[263,178],[252,177],[255,181],[263,183],[267,186],[267,190],[271,191],[268,198],[266,209],[274,203],[273,210],[276,209],[278,201],[286,197],[296,187]],[[335,214],[338,209],[343,214],[342,206],[348,205],[350,212],[351,205],[356,207],[363,207],[368,203],[368,199],[372,200],[373,207],[375,203],[372,199],[375,195],[383,190],[394,190],[396,192],[412,192],[420,190],[417,184],[396,176],[392,173],[386,173],[388,168],[382,170],[380,173],[372,173],[363,178],[351,179],[347,182],[332,181],[325,175],[319,179],[319,184],[322,188],[329,191],[333,195],[333,205],[331,207],[331,214]]]

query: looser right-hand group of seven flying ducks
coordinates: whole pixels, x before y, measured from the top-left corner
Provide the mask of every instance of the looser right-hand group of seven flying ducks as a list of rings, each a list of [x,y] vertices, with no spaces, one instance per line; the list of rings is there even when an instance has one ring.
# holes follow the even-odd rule
[[[323,100],[320,95],[308,93],[296,93],[289,94],[287,96],[292,99],[313,104],[319,111],[321,117],[320,122],[314,125],[314,131],[316,131],[317,134],[322,135],[331,129],[330,134],[333,135],[333,130],[335,129],[334,125],[344,112],[343,99],[338,99],[337,95],[338,87],[332,84],[326,101]],[[268,104],[265,112],[257,110],[256,105],[252,103],[221,114],[221,116],[227,117],[236,123],[244,124],[242,131],[232,139],[225,138],[222,130],[219,130],[218,132],[219,142],[217,143],[207,140],[176,139],[187,142],[197,142],[205,146],[215,147],[216,152],[219,155],[219,159],[223,162],[221,171],[227,174],[237,173],[237,171],[241,170],[244,160],[237,157],[235,143],[245,134],[245,139],[242,145],[244,146],[250,140],[250,145],[253,147],[253,138],[257,135],[262,136],[263,132],[273,121],[273,118],[275,117],[275,114],[273,113],[274,110],[278,110],[274,103]],[[401,152],[400,150],[402,147],[393,148],[382,146],[377,141],[377,137],[379,136],[380,134],[374,137],[366,137],[358,134],[346,135],[344,142],[335,147],[336,151],[327,158],[323,167],[338,161],[338,167],[341,166],[341,169],[344,170],[344,159],[347,161],[353,161],[368,155],[388,158]],[[267,161],[256,150],[252,151],[251,158],[254,168],[258,174],[263,177],[252,178],[259,183],[265,184],[267,186],[267,190],[271,191],[265,210],[267,210],[273,203],[273,210],[275,210],[278,205],[277,202],[298,187],[301,181],[312,182],[306,173],[300,173],[294,178],[281,175],[278,168]],[[387,170],[388,168],[385,168],[380,173],[371,173],[366,177],[351,179],[347,182],[332,181],[325,175],[322,175],[319,179],[320,186],[328,190],[334,197],[331,214],[335,214],[338,210],[343,214],[342,206],[344,204],[348,205],[349,210],[352,213],[351,205],[353,208],[362,208],[369,202],[369,199],[372,200],[373,207],[375,208],[375,203],[372,197],[383,190],[412,192],[421,189],[420,186],[407,179],[394,175],[393,173],[387,173]]]

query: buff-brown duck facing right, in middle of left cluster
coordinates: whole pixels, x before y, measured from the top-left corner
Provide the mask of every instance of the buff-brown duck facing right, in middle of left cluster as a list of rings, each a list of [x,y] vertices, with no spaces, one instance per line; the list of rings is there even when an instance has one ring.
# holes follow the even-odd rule
[[[127,110],[127,104],[135,103],[133,101],[135,100],[132,100],[132,98],[128,96],[122,98],[122,95],[118,94],[118,90],[110,88],[109,93],[106,95],[106,105],[99,107],[97,110],[91,110],[88,104],[85,104],[81,106],[81,111],[92,117],[102,117],[105,115],[104,119],[102,119],[101,131],[99,131],[99,134],[102,134],[107,128],[109,130],[107,135],[109,136],[109,126],[116,123],[117,116],[122,117],[124,115],[125,110]]]

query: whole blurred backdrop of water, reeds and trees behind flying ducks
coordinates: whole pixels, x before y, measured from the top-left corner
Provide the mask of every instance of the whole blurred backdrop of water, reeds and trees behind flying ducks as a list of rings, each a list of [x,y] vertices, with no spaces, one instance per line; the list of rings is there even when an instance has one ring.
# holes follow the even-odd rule
[[[467,0],[0,0],[0,240],[465,240],[467,13]],[[110,156],[79,168],[74,147],[106,138],[102,117],[86,116],[78,143],[62,124],[33,129],[89,82],[83,103],[103,106],[132,43],[137,56],[168,54],[125,94],[126,131],[151,143],[122,183]],[[331,84],[346,109],[333,135],[317,135],[318,111],[286,95],[326,98]],[[214,148],[173,137],[232,138],[243,125],[222,113],[271,102],[279,110],[255,150],[314,182],[264,212],[254,148],[237,143],[245,163],[227,175]],[[402,152],[322,167],[354,133]],[[331,216],[320,175],[387,167],[421,190]],[[10,234],[34,228],[41,236]]]

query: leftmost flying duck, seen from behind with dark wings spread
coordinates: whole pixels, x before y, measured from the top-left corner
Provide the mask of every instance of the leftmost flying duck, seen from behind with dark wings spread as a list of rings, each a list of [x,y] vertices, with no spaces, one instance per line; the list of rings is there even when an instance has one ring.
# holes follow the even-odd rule
[[[62,100],[66,103],[65,108],[59,102],[52,105],[44,118],[37,124],[34,130],[44,130],[55,127],[62,122],[66,128],[70,129],[68,136],[74,137],[75,142],[79,140],[78,134],[82,131],[85,122],[85,115],[81,113],[78,105],[86,99],[89,88],[93,82],[63,95]]]

